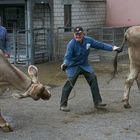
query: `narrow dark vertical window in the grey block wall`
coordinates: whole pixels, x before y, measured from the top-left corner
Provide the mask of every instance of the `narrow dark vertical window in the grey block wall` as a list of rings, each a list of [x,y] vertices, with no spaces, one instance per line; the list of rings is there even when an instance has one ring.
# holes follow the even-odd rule
[[[64,27],[65,32],[71,31],[71,5],[64,5]]]

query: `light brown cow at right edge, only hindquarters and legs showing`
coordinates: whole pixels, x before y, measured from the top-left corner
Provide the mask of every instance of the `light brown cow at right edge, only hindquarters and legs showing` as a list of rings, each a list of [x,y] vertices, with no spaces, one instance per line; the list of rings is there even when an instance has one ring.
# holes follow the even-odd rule
[[[136,80],[140,90],[140,26],[132,26],[126,30],[121,49],[123,48],[125,42],[127,42],[128,46],[130,73],[125,82],[123,101],[125,102],[124,107],[130,108],[131,106],[129,104],[129,94],[134,80]]]

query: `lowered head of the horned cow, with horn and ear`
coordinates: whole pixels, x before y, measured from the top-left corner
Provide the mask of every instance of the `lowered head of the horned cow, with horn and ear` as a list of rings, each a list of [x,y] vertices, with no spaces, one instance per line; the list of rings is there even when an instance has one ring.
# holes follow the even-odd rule
[[[27,91],[23,94],[15,94],[14,97],[21,99],[26,97],[31,97],[34,100],[49,100],[51,97],[50,91],[47,87],[43,86],[38,80],[38,69],[34,65],[28,67],[28,74],[31,78],[31,84],[29,85]]]

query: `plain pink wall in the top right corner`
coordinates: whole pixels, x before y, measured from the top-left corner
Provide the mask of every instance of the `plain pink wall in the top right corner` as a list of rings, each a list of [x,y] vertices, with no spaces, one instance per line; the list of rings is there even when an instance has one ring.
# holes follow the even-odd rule
[[[140,24],[140,0],[107,0],[107,26]]]

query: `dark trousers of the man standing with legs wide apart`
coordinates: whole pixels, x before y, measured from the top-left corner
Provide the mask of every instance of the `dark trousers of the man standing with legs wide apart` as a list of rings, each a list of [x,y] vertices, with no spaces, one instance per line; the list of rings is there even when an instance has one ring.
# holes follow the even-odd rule
[[[79,67],[77,69],[77,72],[75,73],[74,77],[69,78],[66,81],[66,83],[62,89],[60,106],[67,106],[68,97],[70,95],[70,92],[71,92],[73,86],[75,85],[78,76],[81,74],[84,75],[85,79],[87,80],[87,82],[90,86],[94,104],[102,102],[96,75],[94,73],[86,72]]]

